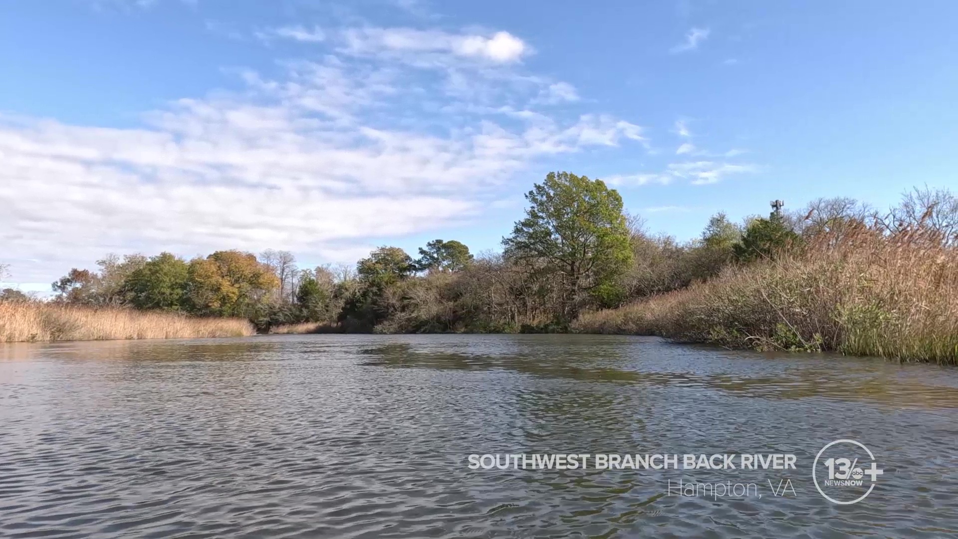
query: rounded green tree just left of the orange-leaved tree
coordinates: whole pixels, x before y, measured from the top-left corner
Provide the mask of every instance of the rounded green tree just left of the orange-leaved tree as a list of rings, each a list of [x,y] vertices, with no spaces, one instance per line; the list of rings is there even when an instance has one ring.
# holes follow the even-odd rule
[[[190,267],[169,252],[150,257],[126,278],[124,288],[137,309],[182,311],[188,307]]]

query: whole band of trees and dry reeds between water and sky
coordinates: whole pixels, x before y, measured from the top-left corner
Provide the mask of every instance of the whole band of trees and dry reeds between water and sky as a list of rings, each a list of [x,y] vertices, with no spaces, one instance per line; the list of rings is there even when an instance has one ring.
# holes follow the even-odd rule
[[[0,338],[573,331],[958,362],[947,190],[884,213],[851,199],[741,224],[719,213],[687,243],[649,234],[599,179],[551,173],[526,199],[502,252],[480,255],[434,240],[355,267],[299,269],[275,250],[107,256],[54,283],[52,302],[0,291]]]

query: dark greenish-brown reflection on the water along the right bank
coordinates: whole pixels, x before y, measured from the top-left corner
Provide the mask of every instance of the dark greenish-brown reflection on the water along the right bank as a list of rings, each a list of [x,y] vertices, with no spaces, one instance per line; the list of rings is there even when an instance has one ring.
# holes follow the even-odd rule
[[[763,357],[732,351],[689,348],[646,339],[647,346],[670,355],[696,355],[702,352],[723,360]],[[654,344],[652,344],[654,343]],[[913,365],[875,360],[853,360],[837,355],[815,354],[787,356],[774,362],[721,363],[712,365],[659,363],[661,357],[641,354],[631,347],[594,346],[587,356],[572,356],[561,349],[534,354],[464,353],[434,348],[421,349],[412,342],[390,342],[359,350],[370,359],[363,364],[393,367],[420,367],[463,370],[514,370],[551,378],[572,378],[590,382],[626,382],[652,386],[703,387],[741,392],[743,396],[797,399],[828,397],[850,400],[875,400],[896,406],[958,408],[958,376],[950,367]],[[641,348],[641,347],[640,347]],[[634,357],[629,352],[640,352]],[[549,354],[556,353],[556,361]],[[647,362],[643,362],[642,359]],[[638,360],[637,360],[638,359]],[[774,360],[774,357],[770,358]],[[572,361],[569,361],[572,360]],[[637,360],[637,361],[636,361]],[[811,360],[811,361],[809,361]],[[695,360],[692,360],[693,362]],[[657,363],[657,364],[655,364]],[[694,370],[668,370],[671,366]],[[654,370],[646,370],[654,369]],[[747,369],[747,370],[746,370]],[[838,373],[836,370],[850,370]],[[943,374],[944,379],[936,375]],[[917,375],[917,376],[916,376]]]

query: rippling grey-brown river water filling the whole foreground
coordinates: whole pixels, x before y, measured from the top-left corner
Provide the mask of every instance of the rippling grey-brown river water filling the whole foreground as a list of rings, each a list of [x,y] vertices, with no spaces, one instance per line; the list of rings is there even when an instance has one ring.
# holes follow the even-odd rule
[[[958,369],[647,338],[0,345],[0,536],[942,537],[958,531],[956,408]],[[851,506],[810,480],[843,437],[886,471]],[[553,452],[782,452],[799,466],[467,467]],[[666,496],[679,478],[787,478],[797,495]]]

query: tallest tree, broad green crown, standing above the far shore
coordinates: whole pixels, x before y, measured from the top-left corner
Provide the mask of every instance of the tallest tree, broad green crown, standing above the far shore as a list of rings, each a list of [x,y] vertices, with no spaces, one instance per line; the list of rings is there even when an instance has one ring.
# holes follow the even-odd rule
[[[503,239],[505,254],[559,276],[561,317],[578,315],[582,296],[601,304],[621,296],[617,277],[632,261],[622,197],[600,179],[549,173],[526,195],[526,217]]]

